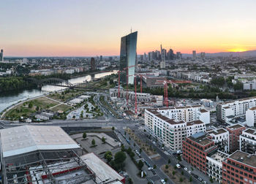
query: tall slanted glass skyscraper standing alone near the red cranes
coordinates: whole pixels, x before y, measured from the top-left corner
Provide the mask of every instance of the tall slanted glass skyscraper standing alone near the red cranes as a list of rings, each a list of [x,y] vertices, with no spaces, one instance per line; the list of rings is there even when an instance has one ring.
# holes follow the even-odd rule
[[[127,68],[127,72],[125,72],[125,74],[121,74],[120,76],[120,80],[123,83],[134,83],[134,77],[132,75],[135,74],[137,35],[138,31],[121,37],[119,70],[123,71],[125,68]]]

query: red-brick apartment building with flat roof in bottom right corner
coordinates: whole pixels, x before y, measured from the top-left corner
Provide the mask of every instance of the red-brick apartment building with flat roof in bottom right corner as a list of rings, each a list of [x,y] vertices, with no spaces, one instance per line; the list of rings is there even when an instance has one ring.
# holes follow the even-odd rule
[[[237,150],[222,161],[222,183],[255,184],[256,156]]]

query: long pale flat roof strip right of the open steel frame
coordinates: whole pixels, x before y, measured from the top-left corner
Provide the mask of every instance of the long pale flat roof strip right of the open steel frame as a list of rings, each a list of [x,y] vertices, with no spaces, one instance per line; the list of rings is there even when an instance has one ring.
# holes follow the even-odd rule
[[[88,153],[80,156],[80,158],[82,158],[83,162],[85,162],[86,165],[89,166],[89,168],[95,173],[97,183],[124,180],[124,177],[119,175],[114,169],[112,169],[94,153]]]

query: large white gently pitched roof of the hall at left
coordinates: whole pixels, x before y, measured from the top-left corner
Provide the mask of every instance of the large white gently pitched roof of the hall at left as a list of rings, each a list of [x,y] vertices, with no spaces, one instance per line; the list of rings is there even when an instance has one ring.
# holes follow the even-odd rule
[[[4,157],[35,150],[76,149],[79,145],[59,126],[16,126],[1,129]]]

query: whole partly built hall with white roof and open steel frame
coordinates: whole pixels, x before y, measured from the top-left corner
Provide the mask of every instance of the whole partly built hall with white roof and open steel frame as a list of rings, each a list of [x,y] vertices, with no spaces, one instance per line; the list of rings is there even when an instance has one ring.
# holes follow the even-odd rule
[[[2,183],[108,183],[116,180],[121,183],[123,180],[120,175],[108,175],[108,182],[103,181],[105,177],[86,164],[89,154],[82,158],[80,146],[59,126],[17,126],[1,129],[0,134]]]

